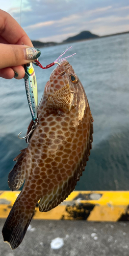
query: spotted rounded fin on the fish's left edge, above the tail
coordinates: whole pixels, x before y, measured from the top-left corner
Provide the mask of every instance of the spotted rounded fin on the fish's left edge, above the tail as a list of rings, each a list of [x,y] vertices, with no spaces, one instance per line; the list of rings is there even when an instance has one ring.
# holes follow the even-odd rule
[[[21,150],[21,153],[14,158],[16,164],[14,165],[8,176],[8,185],[12,191],[19,189],[25,179],[25,162],[23,162],[25,152],[26,148]]]

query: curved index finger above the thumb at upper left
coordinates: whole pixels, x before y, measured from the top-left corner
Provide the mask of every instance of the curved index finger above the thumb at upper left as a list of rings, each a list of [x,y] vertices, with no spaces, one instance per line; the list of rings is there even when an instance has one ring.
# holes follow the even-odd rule
[[[27,45],[33,47],[33,44],[20,27],[16,20],[7,12],[0,10],[0,35],[12,45]]]

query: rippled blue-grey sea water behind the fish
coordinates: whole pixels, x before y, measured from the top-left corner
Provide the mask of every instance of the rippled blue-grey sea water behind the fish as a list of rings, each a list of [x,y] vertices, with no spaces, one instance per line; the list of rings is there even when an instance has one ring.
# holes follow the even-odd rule
[[[75,42],[67,54],[79,76],[94,118],[91,156],[76,190],[129,190],[129,34]],[[53,62],[67,45],[41,49],[43,66]],[[53,67],[35,67],[40,101]],[[0,189],[9,189],[14,157],[26,147],[17,138],[27,131],[31,114],[24,80],[0,78]]]

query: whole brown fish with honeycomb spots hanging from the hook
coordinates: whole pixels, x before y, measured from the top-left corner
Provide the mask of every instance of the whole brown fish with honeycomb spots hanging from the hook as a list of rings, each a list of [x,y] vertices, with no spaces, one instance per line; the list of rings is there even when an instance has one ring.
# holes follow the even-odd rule
[[[66,59],[51,73],[37,114],[28,147],[14,159],[8,177],[12,191],[25,180],[2,230],[12,249],[21,243],[37,202],[42,212],[59,205],[73,191],[89,159],[93,117],[83,85]]]

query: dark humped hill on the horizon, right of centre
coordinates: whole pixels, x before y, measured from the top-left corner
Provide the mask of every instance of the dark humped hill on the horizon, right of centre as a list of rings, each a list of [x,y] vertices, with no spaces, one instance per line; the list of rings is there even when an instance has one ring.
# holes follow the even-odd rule
[[[68,37],[66,40],[63,41],[63,43],[98,38],[98,37],[99,37],[98,35],[92,34],[90,31],[82,31],[78,35]]]

